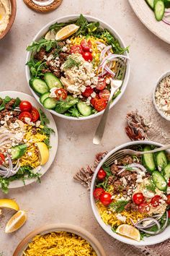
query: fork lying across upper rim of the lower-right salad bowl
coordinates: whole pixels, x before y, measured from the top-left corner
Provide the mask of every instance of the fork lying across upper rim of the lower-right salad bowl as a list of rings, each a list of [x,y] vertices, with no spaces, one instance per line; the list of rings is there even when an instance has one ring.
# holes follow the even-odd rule
[[[161,148],[156,148],[154,150],[149,150],[149,151],[135,151],[135,150],[131,150],[129,148],[126,148],[124,150],[119,150],[115,153],[113,153],[112,155],[109,156],[109,158],[107,158],[107,161],[104,162],[105,166],[111,166],[113,163],[115,163],[115,160],[119,160],[120,158],[122,158],[125,155],[144,155],[144,154],[148,154],[148,153],[156,153],[162,150],[167,150],[170,148],[170,144],[163,146]]]

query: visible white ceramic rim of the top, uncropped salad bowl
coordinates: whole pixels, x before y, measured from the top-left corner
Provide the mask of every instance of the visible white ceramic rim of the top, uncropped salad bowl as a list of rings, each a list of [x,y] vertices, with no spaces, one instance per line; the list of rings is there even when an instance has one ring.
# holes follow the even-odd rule
[[[45,25],[44,27],[42,27],[42,29],[37,33],[37,35],[35,35],[35,38],[33,38],[32,41],[37,41],[40,38],[42,38],[43,35],[45,35],[45,33],[47,33],[48,28],[50,27],[50,25],[53,25],[55,22],[68,22],[69,20],[76,20],[79,17],[79,15],[68,15],[65,17],[61,17],[58,18],[56,20],[53,20],[52,22],[49,22],[47,25]],[[120,35],[115,31],[115,29],[113,29],[110,25],[108,25],[107,23],[103,22],[102,20],[99,20],[98,18],[95,17],[91,17],[88,15],[84,15],[84,17],[86,17],[87,20],[89,21],[94,21],[94,22],[100,22],[101,27],[106,28],[107,30],[109,30],[110,33],[112,33],[112,35],[115,36],[115,38],[117,38],[120,41],[120,45],[122,47],[125,48],[125,43],[123,43],[122,38],[120,37]],[[125,53],[126,56],[128,56],[127,53]],[[27,61],[30,60],[30,56],[31,56],[31,52],[27,53],[27,59],[26,59],[26,63]],[[27,82],[29,85],[29,81],[30,81],[30,69],[28,66],[25,67],[25,71],[26,71],[26,77],[27,77]],[[123,93],[125,93],[125,89],[128,85],[128,80],[129,80],[129,76],[130,76],[130,63],[128,61],[127,64],[127,69],[126,69],[126,74],[125,74],[125,80],[123,82],[122,88],[121,88],[121,93],[120,95],[117,96],[117,98],[115,98],[115,100],[113,101],[113,103],[110,105],[110,108],[112,108],[113,106],[115,106],[115,104],[120,100],[120,98],[122,97]],[[30,86],[29,86],[30,87]],[[36,100],[38,101],[38,103],[40,103],[39,97],[37,96],[37,94],[34,92],[34,90],[32,90],[32,88],[30,88],[32,94],[34,95],[34,97],[36,98]],[[56,111],[53,110],[49,110],[50,113],[54,114],[55,116],[60,116],[64,119],[69,119],[69,120],[86,120],[86,119],[92,119],[94,117],[100,116],[104,111],[98,112],[97,114],[92,114],[90,116],[84,116],[84,117],[73,117],[73,116],[65,116],[64,114],[58,114]]]

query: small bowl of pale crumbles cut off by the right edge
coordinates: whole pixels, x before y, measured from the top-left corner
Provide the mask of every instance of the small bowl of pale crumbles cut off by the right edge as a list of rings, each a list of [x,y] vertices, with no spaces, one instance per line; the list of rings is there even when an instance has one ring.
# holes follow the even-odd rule
[[[165,72],[158,79],[153,91],[153,105],[158,114],[170,121],[170,72]]]

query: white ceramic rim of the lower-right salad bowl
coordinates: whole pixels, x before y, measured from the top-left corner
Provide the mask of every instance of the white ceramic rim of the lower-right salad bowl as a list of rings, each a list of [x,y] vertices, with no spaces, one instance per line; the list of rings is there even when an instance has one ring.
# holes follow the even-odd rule
[[[115,153],[117,150],[121,150],[123,148],[127,148],[128,146],[137,145],[137,144],[156,145],[158,147],[162,146],[160,143],[157,143],[157,142],[140,140],[140,141],[128,142],[128,143],[122,144],[122,145],[114,148],[113,150],[111,150],[103,158],[103,160],[99,163],[99,166],[97,166],[97,169],[94,172],[94,176],[93,176],[93,179],[91,182],[90,200],[91,200],[91,208],[93,210],[94,216],[96,217],[99,225],[102,226],[102,228],[104,229],[104,231],[107,232],[107,234],[109,234],[110,236],[119,240],[120,242],[124,242],[126,244],[132,244],[135,246],[146,246],[146,245],[151,245],[151,244],[158,244],[158,243],[164,242],[164,240],[166,240],[166,239],[169,239],[170,238],[170,226],[168,226],[161,234],[157,234],[156,236],[145,237],[140,242],[137,242],[133,239],[126,238],[124,236],[120,236],[119,234],[116,234],[111,230],[111,226],[105,224],[104,221],[102,221],[102,218],[99,215],[99,210],[95,204],[94,196],[93,196],[97,173],[99,171],[99,168],[101,168],[101,166],[104,164],[104,162],[107,160],[107,158],[109,158],[109,155],[112,155],[112,153]]]

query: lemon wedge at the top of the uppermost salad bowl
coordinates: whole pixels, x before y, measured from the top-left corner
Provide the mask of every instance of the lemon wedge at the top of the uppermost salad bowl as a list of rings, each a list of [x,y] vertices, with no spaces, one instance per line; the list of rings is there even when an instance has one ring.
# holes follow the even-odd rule
[[[61,30],[58,31],[55,35],[56,40],[63,40],[68,38],[70,35],[73,35],[73,33],[76,33],[76,31],[79,30],[79,26],[75,24],[67,25],[66,27],[61,28]]]

